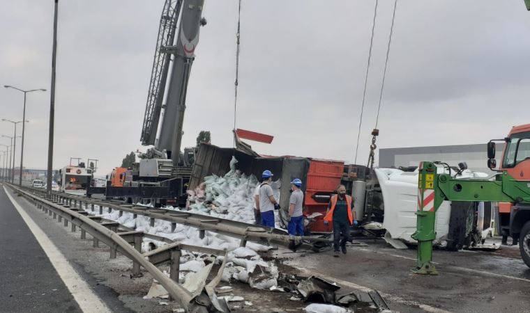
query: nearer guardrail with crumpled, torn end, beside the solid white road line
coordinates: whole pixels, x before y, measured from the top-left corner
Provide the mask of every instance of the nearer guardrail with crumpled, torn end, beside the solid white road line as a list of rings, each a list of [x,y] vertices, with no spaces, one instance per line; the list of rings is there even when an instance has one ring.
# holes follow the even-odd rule
[[[108,220],[105,221],[101,216],[88,216],[88,212],[82,209],[77,209],[77,207],[71,207],[70,204],[72,198],[59,197],[58,195],[53,194],[50,199],[45,198],[45,191],[31,189],[33,193],[35,193],[33,194],[11,184],[6,185],[10,186],[15,192],[24,195],[24,197],[33,202],[38,209],[43,210],[45,214],[49,214],[59,222],[64,220],[64,226],[68,226],[68,223],[70,223],[73,232],[79,227],[81,230],[81,239],[86,239],[87,232],[91,234],[94,247],[98,247],[100,241],[105,243],[105,245],[110,248],[110,258],[115,258],[116,252],[119,252],[128,257],[128,259],[131,259],[132,276],[138,277],[142,275],[140,266],[145,268],[146,271],[149,271],[149,273],[153,275],[153,278],[162,284],[162,287],[166,289],[172,299],[179,301],[186,312],[229,312],[227,304],[219,301],[213,290],[220,282],[222,271],[227,262],[227,257],[224,257],[217,275],[211,280],[211,282],[209,282],[209,284],[206,284],[206,278],[208,277],[213,264],[209,264],[209,266],[204,268],[204,271],[197,273],[197,277],[191,284],[188,284],[188,289],[179,284],[179,259],[181,256],[181,250],[226,256],[227,252],[225,250],[216,250],[172,242],[142,254],[142,240],[143,237],[148,234],[130,229],[121,231],[123,226],[119,223]],[[66,201],[68,199],[70,200],[70,204]],[[82,205],[82,203],[83,202],[80,202],[80,205]],[[153,237],[153,235],[149,236]],[[167,242],[167,240],[169,239],[166,239],[165,241]],[[169,262],[170,264],[169,277],[156,267],[165,262]]]

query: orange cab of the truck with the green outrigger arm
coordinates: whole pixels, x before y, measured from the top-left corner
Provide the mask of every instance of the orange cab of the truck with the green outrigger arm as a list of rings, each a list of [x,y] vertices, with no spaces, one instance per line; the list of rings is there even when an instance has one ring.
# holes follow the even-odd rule
[[[530,189],[530,124],[513,127],[503,141],[505,146],[499,170],[506,171],[517,181],[528,181],[529,184],[525,186]],[[492,169],[495,167],[492,159],[488,161],[488,165]],[[530,226],[530,204],[523,203],[522,199],[520,202],[499,202],[498,223],[503,243],[506,243],[508,234],[512,236],[513,244],[517,244],[520,235],[523,236],[521,240],[529,241],[530,238],[524,237],[525,230]]]

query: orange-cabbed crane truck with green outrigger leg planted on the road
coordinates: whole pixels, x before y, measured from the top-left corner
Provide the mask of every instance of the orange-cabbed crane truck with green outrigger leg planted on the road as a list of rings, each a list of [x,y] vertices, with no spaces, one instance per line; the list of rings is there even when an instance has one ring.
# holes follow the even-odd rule
[[[495,169],[495,141],[506,143],[499,170]],[[444,200],[499,202],[501,231],[519,238],[521,257],[530,267],[530,124],[513,127],[508,137],[487,143],[487,158],[487,167],[497,172],[487,179],[455,179],[438,173],[439,166],[448,167],[444,163],[420,163],[416,232],[412,235],[418,241],[414,273],[438,274],[432,264],[432,241],[436,211]]]

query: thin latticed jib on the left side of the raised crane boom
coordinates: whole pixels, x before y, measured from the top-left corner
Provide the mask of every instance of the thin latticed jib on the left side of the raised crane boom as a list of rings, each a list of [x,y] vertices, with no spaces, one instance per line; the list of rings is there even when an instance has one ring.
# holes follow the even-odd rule
[[[169,72],[170,55],[165,53],[165,47],[172,46],[175,38],[176,23],[179,19],[182,0],[166,0],[160,17],[158,27],[158,39],[156,40],[155,57],[153,59],[153,70],[151,81],[149,81],[149,92],[144,115],[144,125],[140,141],[142,145],[154,145],[162,101]]]

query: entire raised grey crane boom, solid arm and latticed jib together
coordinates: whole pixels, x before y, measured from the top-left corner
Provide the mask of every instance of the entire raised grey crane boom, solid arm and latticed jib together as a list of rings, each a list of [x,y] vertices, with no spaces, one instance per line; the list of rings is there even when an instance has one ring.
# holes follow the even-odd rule
[[[155,145],[151,156],[163,157],[165,152],[173,166],[179,163],[186,90],[199,42],[199,28],[206,25],[203,6],[204,0],[166,0],[160,17],[140,141],[142,145]],[[164,99],[165,105],[162,105]],[[163,115],[162,124],[156,141],[160,115]]]

